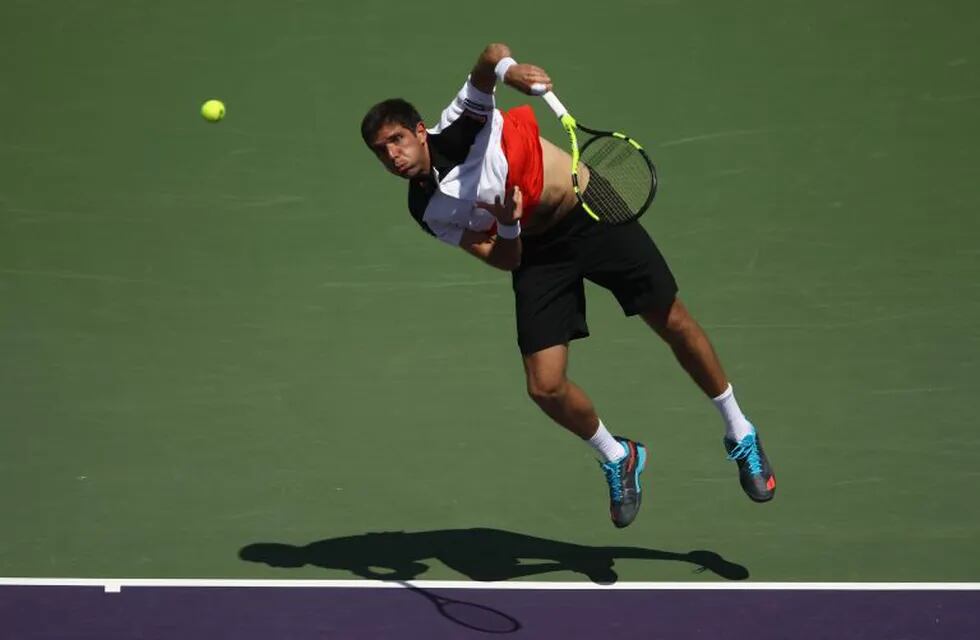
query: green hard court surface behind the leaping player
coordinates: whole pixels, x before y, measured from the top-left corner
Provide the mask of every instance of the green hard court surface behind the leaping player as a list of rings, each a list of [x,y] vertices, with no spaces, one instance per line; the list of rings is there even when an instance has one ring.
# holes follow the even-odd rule
[[[0,576],[350,578],[238,553],[487,527],[752,580],[980,581],[978,31],[966,0],[6,0]],[[650,149],[644,225],[772,503],[592,288],[571,376],[652,454],[614,529],[589,449],[525,395],[508,277],[421,233],[364,148],[371,104],[431,120],[498,40]]]

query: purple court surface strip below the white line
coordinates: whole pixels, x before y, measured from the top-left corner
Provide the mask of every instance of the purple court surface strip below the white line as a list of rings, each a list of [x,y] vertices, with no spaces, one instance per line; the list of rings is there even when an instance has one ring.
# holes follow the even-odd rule
[[[0,585],[0,640],[980,639],[978,585],[256,586],[7,582]]]

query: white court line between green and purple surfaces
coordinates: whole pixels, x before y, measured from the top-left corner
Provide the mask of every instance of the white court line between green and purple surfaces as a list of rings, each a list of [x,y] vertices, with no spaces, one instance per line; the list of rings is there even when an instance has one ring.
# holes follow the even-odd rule
[[[318,588],[510,590],[643,590],[643,591],[980,591],[980,582],[471,582],[465,580],[234,580],[163,578],[0,578],[0,587],[100,587],[118,593],[123,588]]]

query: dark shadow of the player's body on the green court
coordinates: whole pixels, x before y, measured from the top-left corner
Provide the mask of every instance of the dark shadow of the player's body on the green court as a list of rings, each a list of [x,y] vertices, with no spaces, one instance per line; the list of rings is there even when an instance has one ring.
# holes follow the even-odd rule
[[[471,580],[500,581],[573,571],[599,584],[616,582],[618,559],[666,560],[710,571],[726,580],[744,580],[749,571],[713,551],[686,553],[640,547],[590,547],[499,529],[367,533],[330,538],[303,546],[257,542],[239,551],[242,560],[273,567],[313,565],[350,571],[374,580],[414,580],[438,560]]]

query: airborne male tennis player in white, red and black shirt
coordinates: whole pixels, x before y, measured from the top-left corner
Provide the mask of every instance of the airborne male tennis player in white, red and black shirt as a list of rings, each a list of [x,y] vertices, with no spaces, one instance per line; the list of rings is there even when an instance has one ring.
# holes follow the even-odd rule
[[[612,435],[566,376],[570,342],[589,335],[585,279],[611,291],[627,316],[640,316],[667,342],[721,412],[723,442],[745,493],[770,500],[776,479],[759,435],[708,337],[677,298],[657,246],[638,222],[597,223],[582,210],[570,156],[539,136],[530,106],[496,109],[498,81],[528,95],[532,85],[551,89],[543,69],[518,64],[506,45],[490,44],[435,126],[426,127],[411,104],[395,98],[371,107],[361,135],[389,172],[408,181],[409,212],[426,233],[512,272],[528,394],[595,450],[613,524],[625,527],[639,511],[647,451]],[[582,173],[587,190],[588,172]]]

